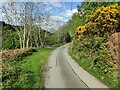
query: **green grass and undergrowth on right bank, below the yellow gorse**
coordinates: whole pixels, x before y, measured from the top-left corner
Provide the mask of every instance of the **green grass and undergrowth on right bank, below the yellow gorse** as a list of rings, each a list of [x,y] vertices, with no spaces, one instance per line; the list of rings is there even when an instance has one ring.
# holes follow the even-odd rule
[[[95,76],[101,82],[110,88],[118,88],[118,75],[115,65],[106,49],[90,49],[86,46],[80,47],[80,44],[70,44],[69,54],[72,58],[87,72]],[[103,45],[103,43],[100,43]]]

